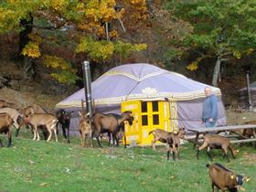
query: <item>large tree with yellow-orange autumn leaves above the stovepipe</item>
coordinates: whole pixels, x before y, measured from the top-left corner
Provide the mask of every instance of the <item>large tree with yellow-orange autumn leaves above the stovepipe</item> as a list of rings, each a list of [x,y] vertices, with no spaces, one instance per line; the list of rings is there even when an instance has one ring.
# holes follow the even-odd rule
[[[133,16],[136,22],[146,18],[145,0],[5,0],[0,3],[0,33],[19,33],[19,54],[42,59],[54,69],[51,77],[60,82],[75,82],[76,70],[71,62],[58,55],[42,52],[42,46],[56,46],[69,39],[73,51],[85,53],[87,59],[103,62],[113,55],[126,57],[133,51],[146,48],[145,44],[124,42],[118,37],[125,30],[123,17]],[[127,10],[133,9],[133,14]],[[144,10],[144,12],[142,12]],[[121,26],[121,27],[120,27]]]

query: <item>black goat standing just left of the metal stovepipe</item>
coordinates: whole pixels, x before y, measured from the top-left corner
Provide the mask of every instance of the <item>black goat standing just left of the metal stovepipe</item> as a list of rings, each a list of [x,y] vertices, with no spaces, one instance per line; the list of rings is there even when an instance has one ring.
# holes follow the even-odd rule
[[[68,140],[68,143],[70,143],[70,140],[69,140],[69,125],[70,125],[70,118],[71,118],[72,113],[73,112],[66,112],[63,109],[60,109],[56,112],[56,117],[58,118],[59,124],[61,125],[63,136],[65,137],[65,139]],[[67,137],[67,134],[66,134],[66,130],[67,130],[67,133],[68,133],[68,137]]]

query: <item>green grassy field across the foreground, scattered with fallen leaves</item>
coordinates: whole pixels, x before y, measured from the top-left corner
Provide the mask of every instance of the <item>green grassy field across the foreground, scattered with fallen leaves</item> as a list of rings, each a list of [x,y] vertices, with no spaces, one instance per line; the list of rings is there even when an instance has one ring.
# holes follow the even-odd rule
[[[27,132],[27,133],[26,133]],[[33,141],[23,131],[13,138],[10,148],[0,148],[0,191],[211,191],[206,152],[196,152],[192,144],[181,148],[180,161],[166,161],[165,148],[158,146],[123,148],[83,148],[79,138],[71,144]],[[60,136],[59,136],[60,137]],[[0,135],[6,144],[4,135]],[[238,146],[236,146],[238,147]],[[256,149],[240,147],[236,160],[228,163],[219,151],[213,151],[214,161],[235,173],[252,176],[244,184],[247,191],[256,191]],[[255,184],[255,183],[254,183]]]

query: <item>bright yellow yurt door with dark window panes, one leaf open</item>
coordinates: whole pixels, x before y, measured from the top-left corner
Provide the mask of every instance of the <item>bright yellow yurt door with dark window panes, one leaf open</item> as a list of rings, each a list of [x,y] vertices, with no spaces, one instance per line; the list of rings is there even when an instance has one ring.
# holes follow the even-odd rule
[[[169,101],[124,101],[121,111],[132,111],[134,117],[132,126],[125,124],[126,144],[150,145],[152,130],[173,131],[176,125],[171,125],[170,106]]]

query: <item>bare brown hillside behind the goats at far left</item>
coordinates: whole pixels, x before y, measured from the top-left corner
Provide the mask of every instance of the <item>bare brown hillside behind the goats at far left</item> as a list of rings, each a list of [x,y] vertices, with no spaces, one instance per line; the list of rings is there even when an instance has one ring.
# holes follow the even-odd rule
[[[57,102],[69,95],[70,92],[58,94],[55,91],[45,91],[46,83],[42,80],[26,80],[22,69],[12,61],[0,60],[0,76],[7,80],[0,89],[0,100],[14,103],[15,108],[22,109],[33,103],[39,104],[52,112]]]

